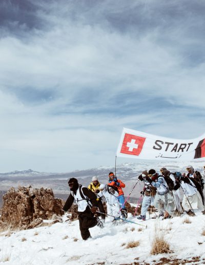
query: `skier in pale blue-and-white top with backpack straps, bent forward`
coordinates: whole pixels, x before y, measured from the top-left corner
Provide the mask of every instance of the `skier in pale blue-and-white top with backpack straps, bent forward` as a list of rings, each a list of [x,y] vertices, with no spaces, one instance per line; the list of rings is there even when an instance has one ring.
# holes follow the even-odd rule
[[[165,169],[163,169],[163,172]],[[161,172],[161,170],[160,170]],[[156,176],[156,171],[154,169],[150,169],[148,173],[148,177],[146,178],[154,187],[157,188],[157,194],[154,199],[154,206],[156,209],[161,211],[166,211],[168,213],[164,219],[171,218],[174,212],[174,198],[169,190],[169,185],[165,180],[165,176],[159,175],[156,178],[156,181],[149,178],[149,175]]]

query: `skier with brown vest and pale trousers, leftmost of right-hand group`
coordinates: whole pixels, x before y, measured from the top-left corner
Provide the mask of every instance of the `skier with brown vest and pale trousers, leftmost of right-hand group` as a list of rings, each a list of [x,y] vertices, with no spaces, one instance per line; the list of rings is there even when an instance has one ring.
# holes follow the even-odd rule
[[[141,175],[139,175],[138,179],[140,181],[144,181],[145,187],[143,191],[140,192],[141,195],[144,195],[145,197],[142,200],[141,205],[141,213],[139,216],[137,216],[137,219],[142,219],[143,221],[146,220],[146,213],[150,205],[153,205],[154,197],[156,195],[156,188],[153,187],[149,181],[146,180],[148,177],[148,172],[143,171]]]

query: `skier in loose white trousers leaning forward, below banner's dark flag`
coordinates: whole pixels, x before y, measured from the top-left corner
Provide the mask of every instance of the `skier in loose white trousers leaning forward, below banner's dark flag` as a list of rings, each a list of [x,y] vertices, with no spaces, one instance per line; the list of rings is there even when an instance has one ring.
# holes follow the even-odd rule
[[[180,183],[182,191],[184,192],[182,207],[190,216],[195,216],[193,209],[199,209],[202,214],[205,214],[205,209],[202,202],[202,197],[199,193],[199,183],[191,177],[184,177],[180,173],[176,174],[176,181]]]

